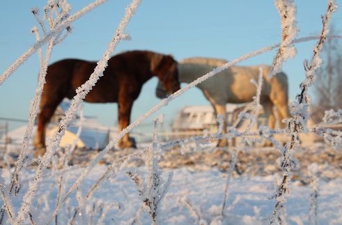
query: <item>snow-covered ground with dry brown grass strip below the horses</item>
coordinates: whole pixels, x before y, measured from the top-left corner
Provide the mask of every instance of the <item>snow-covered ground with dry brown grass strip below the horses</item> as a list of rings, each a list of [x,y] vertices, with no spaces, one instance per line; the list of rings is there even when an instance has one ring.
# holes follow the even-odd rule
[[[140,146],[142,150],[148,145]],[[77,196],[85,196],[92,185],[107,170],[107,164],[114,160],[134,153],[137,150],[114,150],[100,164],[95,166],[89,176],[65,202],[57,217],[58,224],[66,224],[75,214]],[[11,153],[13,155],[13,153]],[[72,160],[73,167],[64,173],[62,190],[68,189],[96,152],[91,150],[75,151]],[[306,166],[312,162],[318,164],[319,196],[317,198],[318,224],[342,224],[342,168],[341,151],[328,150],[323,145],[301,149],[297,159],[301,162],[300,171],[295,173],[290,184],[290,194],[286,202],[284,217],[288,224],[308,224],[310,194],[312,193]],[[209,145],[196,151],[192,148],[175,149],[167,152],[160,166],[163,177],[172,171],[171,185],[160,205],[161,224],[269,224],[275,201],[270,199],[279,181],[281,171],[277,166],[279,153],[274,148],[251,148],[248,152],[238,155],[238,162],[233,172],[228,188],[228,198],[221,215],[224,190],[226,187],[227,170],[231,154],[217,150]],[[22,189],[20,194],[13,196],[13,208],[18,210],[22,196],[31,182],[36,167],[28,166],[23,171]],[[104,224],[130,224],[137,217],[137,212],[143,202],[137,186],[128,176],[129,171],[135,171],[148,179],[148,168],[142,159],[132,159],[119,173],[102,183],[99,189],[86,202],[83,210],[76,217],[77,224],[96,224],[101,215],[105,214]],[[7,169],[1,169],[1,176],[7,181],[10,174]],[[37,198],[31,208],[35,224],[45,224],[56,207],[60,173],[47,169],[41,183]],[[150,224],[147,210],[143,210],[142,224]],[[54,222],[54,219],[53,219]],[[29,223],[29,221],[28,221]],[[139,222],[138,222],[139,224]]]

